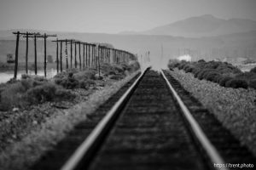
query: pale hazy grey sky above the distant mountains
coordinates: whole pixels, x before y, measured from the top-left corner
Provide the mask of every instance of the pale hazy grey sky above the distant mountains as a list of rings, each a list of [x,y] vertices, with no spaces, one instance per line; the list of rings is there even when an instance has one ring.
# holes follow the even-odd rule
[[[0,0],[0,30],[118,33],[201,14],[256,20],[256,0]]]

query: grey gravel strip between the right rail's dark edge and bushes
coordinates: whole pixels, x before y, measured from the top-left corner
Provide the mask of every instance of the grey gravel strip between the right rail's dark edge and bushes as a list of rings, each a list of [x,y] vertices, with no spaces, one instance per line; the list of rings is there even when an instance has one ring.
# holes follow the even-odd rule
[[[177,69],[169,72],[256,156],[255,89],[224,88],[214,82],[198,80],[191,73]]]

